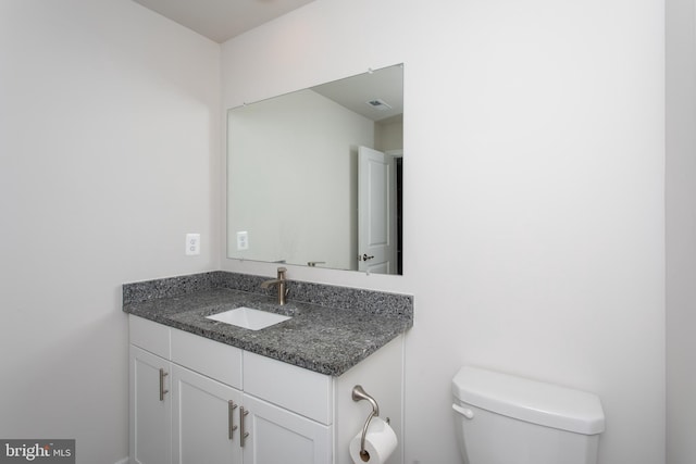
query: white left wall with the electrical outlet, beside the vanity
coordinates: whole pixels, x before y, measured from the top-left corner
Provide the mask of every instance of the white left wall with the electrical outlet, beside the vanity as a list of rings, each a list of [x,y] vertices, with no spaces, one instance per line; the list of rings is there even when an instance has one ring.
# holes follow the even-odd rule
[[[0,437],[127,455],[121,284],[219,266],[220,115],[217,43],[130,1],[0,2]]]

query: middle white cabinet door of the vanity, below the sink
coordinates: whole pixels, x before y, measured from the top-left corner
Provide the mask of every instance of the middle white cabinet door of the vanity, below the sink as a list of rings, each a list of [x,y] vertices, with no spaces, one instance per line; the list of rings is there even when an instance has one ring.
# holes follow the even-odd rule
[[[172,368],[172,462],[241,463],[241,392],[176,364]]]

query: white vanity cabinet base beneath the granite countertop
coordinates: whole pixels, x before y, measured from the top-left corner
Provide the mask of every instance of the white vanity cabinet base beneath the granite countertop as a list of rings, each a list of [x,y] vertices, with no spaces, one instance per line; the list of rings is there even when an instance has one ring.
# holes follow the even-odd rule
[[[356,384],[400,435],[400,337],[332,377],[133,315],[129,328],[132,464],[349,464],[370,412]]]

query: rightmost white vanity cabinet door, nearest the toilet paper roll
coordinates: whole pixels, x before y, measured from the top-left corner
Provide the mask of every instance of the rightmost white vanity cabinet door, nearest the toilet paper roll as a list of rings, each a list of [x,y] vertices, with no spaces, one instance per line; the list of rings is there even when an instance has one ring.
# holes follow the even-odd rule
[[[308,401],[311,401],[309,399]],[[327,464],[332,462],[331,427],[249,394],[244,429],[245,464]]]

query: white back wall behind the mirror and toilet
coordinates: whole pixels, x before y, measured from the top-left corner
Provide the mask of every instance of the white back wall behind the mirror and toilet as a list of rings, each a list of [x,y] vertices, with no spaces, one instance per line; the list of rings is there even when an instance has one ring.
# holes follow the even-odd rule
[[[223,45],[227,108],[406,63],[405,276],[288,276],[415,296],[408,464],[458,462],[465,363],[594,391],[600,462],[664,462],[663,37],[659,0],[316,0]]]

